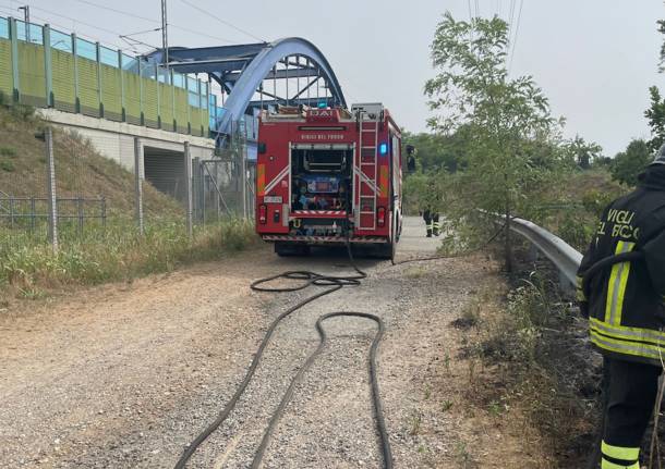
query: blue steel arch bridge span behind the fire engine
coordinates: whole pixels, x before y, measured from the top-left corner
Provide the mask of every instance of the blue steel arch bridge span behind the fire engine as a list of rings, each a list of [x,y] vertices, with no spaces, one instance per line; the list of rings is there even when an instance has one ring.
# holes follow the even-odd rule
[[[169,62],[166,63],[165,58]],[[204,73],[223,101],[211,110],[217,135],[229,135],[234,121],[275,106],[341,106],[347,102],[335,71],[306,39],[205,48],[169,48],[149,58],[180,73]],[[227,97],[225,99],[225,97]]]

